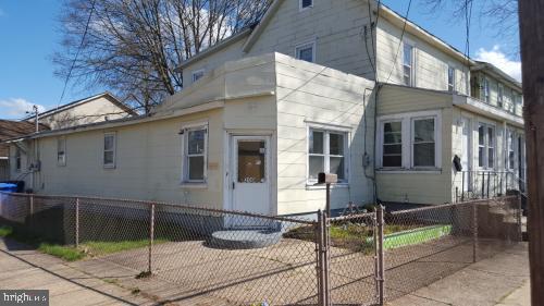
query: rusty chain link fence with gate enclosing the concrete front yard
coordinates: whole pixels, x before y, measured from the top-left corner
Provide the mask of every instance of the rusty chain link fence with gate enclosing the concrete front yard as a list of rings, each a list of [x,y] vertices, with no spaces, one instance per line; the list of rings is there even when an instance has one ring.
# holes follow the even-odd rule
[[[224,305],[383,305],[521,240],[517,197],[304,219],[0,193],[0,218],[72,250],[97,278],[175,284],[178,299]]]

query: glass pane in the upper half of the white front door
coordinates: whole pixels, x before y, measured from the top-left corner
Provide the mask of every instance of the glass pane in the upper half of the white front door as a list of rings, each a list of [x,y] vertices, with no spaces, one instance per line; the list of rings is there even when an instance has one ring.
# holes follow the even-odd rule
[[[238,140],[238,183],[264,183],[267,143]]]

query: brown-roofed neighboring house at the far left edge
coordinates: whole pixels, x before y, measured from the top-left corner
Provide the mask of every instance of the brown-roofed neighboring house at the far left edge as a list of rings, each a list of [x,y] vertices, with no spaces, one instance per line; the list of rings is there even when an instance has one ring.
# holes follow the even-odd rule
[[[49,130],[49,126],[40,124],[40,131]],[[36,132],[36,124],[25,121],[0,120],[0,142],[15,137],[22,137]],[[14,152],[14,167],[21,169],[23,160],[21,159],[21,148]],[[10,146],[0,144],[0,182],[10,180]],[[14,176],[14,180],[17,178]]]

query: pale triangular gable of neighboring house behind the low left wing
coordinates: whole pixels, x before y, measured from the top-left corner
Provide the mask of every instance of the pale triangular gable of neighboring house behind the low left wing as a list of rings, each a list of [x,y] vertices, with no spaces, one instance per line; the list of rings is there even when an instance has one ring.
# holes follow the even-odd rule
[[[137,115],[137,113],[106,91],[76,100],[38,114],[38,121],[51,130],[115,120]],[[25,121],[34,122],[30,115]]]

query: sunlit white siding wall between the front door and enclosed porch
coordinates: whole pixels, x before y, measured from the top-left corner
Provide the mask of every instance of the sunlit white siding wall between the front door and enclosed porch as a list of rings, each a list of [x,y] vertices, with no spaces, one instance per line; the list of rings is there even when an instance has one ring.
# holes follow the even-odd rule
[[[371,154],[374,107],[373,82],[279,56],[277,63],[277,206],[279,213],[323,209],[323,187],[308,185],[308,128],[342,128],[348,132],[349,184],[332,189],[332,207],[370,203],[372,183],[364,178],[364,105],[367,150]],[[372,169],[367,169],[371,175]]]

